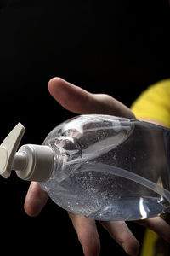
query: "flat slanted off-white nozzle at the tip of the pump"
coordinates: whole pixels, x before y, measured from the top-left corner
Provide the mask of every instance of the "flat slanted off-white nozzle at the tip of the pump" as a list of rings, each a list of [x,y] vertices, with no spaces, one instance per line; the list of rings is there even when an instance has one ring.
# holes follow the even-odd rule
[[[20,145],[26,129],[20,123],[8,134],[0,145],[0,174],[9,177],[14,160],[14,155]]]

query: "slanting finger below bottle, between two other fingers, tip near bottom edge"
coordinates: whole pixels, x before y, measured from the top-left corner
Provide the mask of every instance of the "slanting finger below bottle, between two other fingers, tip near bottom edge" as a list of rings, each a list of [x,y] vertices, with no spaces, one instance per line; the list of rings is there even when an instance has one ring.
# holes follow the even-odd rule
[[[133,236],[133,233],[123,221],[100,222],[110,233],[111,237],[125,250],[129,255],[138,255],[139,241]]]

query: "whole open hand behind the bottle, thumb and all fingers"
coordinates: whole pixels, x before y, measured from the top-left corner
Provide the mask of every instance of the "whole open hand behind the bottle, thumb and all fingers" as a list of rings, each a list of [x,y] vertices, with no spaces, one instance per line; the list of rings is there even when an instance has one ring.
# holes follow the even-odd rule
[[[86,90],[67,83],[63,79],[54,78],[48,83],[48,90],[54,99],[64,108],[74,113],[105,113],[127,118],[135,118],[129,108],[111,96],[91,94]],[[38,183],[32,182],[26,195],[25,210],[30,216],[36,216],[46,204],[48,195],[42,191]],[[100,251],[99,234],[93,219],[85,218],[68,212],[77,236],[86,256],[97,256]],[[100,222],[111,237],[129,254],[139,253],[139,241],[123,221]],[[160,217],[138,221],[139,224],[156,231],[166,241],[170,242],[170,227]]]

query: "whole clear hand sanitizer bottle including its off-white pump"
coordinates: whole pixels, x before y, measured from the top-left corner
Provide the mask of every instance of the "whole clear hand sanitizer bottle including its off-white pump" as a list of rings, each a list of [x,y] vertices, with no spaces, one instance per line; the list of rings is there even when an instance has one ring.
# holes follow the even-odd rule
[[[0,146],[0,174],[39,182],[69,212],[134,220],[170,212],[170,130],[109,115],[80,115],[26,144],[20,123]]]

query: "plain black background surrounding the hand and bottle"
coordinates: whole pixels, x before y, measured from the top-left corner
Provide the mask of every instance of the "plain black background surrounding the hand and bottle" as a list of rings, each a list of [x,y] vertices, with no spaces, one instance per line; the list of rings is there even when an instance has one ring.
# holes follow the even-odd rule
[[[129,107],[148,85],[169,77],[169,15],[166,0],[0,0],[0,139],[20,121],[22,143],[40,144],[73,116],[48,93],[54,76]],[[2,250],[82,255],[67,213],[52,201],[37,218],[26,216],[28,185],[14,173],[0,177]],[[142,241],[144,229],[129,225]],[[101,255],[125,255],[98,228]]]

